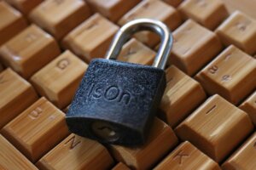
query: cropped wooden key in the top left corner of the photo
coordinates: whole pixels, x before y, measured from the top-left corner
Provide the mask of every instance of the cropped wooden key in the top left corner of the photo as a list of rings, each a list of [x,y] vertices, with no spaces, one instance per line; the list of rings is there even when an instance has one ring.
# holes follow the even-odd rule
[[[0,46],[26,28],[26,20],[19,11],[0,2]]]

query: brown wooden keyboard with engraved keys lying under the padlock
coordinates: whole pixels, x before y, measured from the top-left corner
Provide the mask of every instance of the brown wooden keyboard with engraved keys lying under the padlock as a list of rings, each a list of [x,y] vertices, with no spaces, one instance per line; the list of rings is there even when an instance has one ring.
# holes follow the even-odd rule
[[[0,169],[256,170],[255,0],[0,0]],[[79,137],[65,112],[91,59],[130,20],[161,20],[174,44],[145,144]],[[151,65],[137,33],[119,60]]]

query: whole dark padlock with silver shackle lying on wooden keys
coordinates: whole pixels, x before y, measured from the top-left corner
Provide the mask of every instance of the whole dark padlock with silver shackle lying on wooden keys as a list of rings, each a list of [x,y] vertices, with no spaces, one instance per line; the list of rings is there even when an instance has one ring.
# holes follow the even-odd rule
[[[137,31],[161,37],[153,66],[117,61],[123,44]],[[122,26],[106,59],[93,59],[69,107],[69,130],[102,143],[143,144],[166,88],[165,65],[172,34],[157,20],[133,20]]]

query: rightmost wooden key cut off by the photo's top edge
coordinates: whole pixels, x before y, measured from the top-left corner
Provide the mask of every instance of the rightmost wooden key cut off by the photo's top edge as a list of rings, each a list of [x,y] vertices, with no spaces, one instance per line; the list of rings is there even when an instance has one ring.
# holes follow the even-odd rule
[[[187,0],[178,10],[184,19],[193,19],[210,30],[214,30],[229,15],[222,0]]]

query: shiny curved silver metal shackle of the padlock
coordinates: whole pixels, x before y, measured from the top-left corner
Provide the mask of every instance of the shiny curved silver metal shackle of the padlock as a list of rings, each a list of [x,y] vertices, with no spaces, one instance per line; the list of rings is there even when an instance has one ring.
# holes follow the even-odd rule
[[[172,32],[159,20],[137,19],[126,23],[113,37],[113,41],[106,54],[106,59],[116,59],[123,44],[137,31],[154,31],[160,36],[160,48],[152,66],[164,70],[172,48]]]

